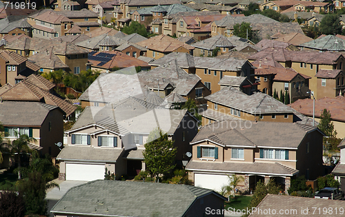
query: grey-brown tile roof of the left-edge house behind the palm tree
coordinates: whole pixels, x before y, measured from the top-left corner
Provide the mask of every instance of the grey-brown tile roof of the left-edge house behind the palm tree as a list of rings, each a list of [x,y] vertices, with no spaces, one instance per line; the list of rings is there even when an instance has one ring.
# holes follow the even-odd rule
[[[57,108],[40,102],[3,101],[0,103],[0,122],[5,126],[41,126],[49,112]]]

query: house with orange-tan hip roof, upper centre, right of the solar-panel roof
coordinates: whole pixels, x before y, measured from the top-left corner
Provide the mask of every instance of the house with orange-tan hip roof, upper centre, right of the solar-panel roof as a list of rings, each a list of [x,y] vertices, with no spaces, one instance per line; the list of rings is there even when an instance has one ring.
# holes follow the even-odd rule
[[[159,59],[170,52],[185,52],[191,54],[194,50],[193,46],[173,39],[165,34],[160,34],[157,37],[140,41],[137,44],[148,49],[146,56],[155,59]]]

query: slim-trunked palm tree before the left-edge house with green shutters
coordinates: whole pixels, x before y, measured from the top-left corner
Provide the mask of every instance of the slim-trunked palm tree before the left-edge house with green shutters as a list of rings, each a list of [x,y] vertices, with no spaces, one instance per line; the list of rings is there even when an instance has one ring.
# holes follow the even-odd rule
[[[17,133],[16,133],[17,134]],[[17,154],[18,158],[18,179],[21,179],[21,155],[31,153],[32,150],[28,146],[34,138],[30,138],[26,134],[19,134],[18,138],[10,144],[10,149],[13,155]]]

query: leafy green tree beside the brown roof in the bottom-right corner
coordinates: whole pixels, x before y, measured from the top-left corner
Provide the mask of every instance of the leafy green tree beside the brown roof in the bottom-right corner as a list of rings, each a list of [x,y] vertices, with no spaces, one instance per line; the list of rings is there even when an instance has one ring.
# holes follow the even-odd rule
[[[257,207],[257,205],[259,205],[259,203],[267,194],[279,194],[279,192],[281,191],[282,189],[277,186],[275,182],[273,182],[273,180],[270,180],[267,185],[259,180],[259,182],[257,182],[257,185],[255,186],[254,194],[250,199],[248,210],[252,210],[253,207]],[[249,214],[245,214],[244,216],[249,216]]]

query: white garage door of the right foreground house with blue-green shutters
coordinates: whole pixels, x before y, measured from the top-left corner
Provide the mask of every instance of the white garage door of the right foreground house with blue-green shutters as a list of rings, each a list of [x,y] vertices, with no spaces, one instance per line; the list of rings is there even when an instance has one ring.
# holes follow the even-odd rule
[[[222,186],[228,185],[229,179],[226,175],[194,174],[194,183],[197,187],[204,187],[218,192]]]

